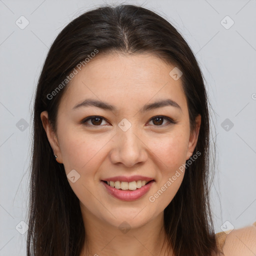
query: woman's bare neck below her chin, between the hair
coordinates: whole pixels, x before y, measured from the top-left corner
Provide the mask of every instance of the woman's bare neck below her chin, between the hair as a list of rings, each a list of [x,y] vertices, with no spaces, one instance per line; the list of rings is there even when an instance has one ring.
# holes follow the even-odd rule
[[[163,227],[163,212],[137,228],[125,229],[98,219],[81,205],[85,228],[85,242],[80,256],[141,256],[168,254]],[[121,226],[122,226],[121,225]]]

